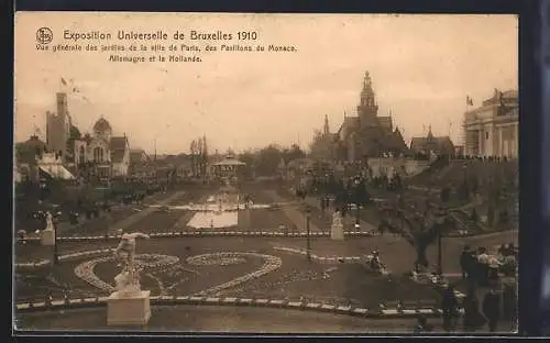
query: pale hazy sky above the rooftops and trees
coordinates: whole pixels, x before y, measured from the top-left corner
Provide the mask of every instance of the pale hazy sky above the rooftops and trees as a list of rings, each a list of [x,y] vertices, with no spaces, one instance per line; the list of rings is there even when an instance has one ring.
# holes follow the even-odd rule
[[[242,30],[256,31],[258,38],[241,45],[298,51],[202,52],[200,63],[117,63],[108,62],[107,52],[37,51],[42,26],[54,33],[50,48],[64,43],[64,30],[110,32],[110,43],[122,45],[128,44],[116,40],[118,30],[163,30],[169,36],[164,45],[176,31]],[[140,53],[119,55],[129,54]],[[45,133],[44,113],[55,110],[63,77],[80,90],[69,95],[80,131],[90,131],[103,115],[116,134],[130,137],[132,148],[152,152],[156,137],[158,153],[188,152],[202,133],[211,150],[298,140],[307,146],[324,114],[332,131],[344,111],[356,114],[369,70],[380,114],[392,111],[406,140],[426,134],[431,124],[435,134],[450,132],[457,142],[466,95],[479,106],[494,88],[517,89],[517,65],[513,15],[18,13],[14,136],[26,140],[34,125]]]

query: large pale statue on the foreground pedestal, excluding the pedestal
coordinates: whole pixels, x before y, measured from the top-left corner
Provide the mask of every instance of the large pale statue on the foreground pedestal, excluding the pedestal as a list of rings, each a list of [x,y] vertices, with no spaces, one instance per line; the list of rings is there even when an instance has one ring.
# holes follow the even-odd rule
[[[116,288],[121,292],[139,291],[140,277],[135,268],[135,239],[148,239],[147,234],[135,232],[122,234],[121,241],[114,250],[114,256],[123,266],[122,272],[114,277]]]

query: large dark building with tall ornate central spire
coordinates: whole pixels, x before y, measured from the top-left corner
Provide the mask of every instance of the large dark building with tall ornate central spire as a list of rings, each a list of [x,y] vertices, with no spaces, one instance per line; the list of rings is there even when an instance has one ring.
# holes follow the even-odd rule
[[[358,106],[358,117],[346,117],[337,133],[339,159],[358,162],[378,157],[384,153],[407,153],[399,129],[393,125],[392,117],[378,117],[373,84],[365,73],[363,90]]]

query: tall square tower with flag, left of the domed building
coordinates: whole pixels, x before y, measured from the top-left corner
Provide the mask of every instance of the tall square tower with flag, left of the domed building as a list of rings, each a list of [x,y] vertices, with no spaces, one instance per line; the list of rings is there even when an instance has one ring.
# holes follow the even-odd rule
[[[67,93],[56,93],[57,113],[46,112],[46,145],[48,151],[57,152],[65,161],[72,151],[68,150],[67,142],[73,126],[68,112]]]

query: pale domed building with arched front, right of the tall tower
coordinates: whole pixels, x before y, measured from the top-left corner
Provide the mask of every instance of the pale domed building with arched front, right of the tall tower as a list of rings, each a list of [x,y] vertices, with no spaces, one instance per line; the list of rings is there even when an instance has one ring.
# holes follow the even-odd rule
[[[114,136],[111,124],[103,117],[96,121],[92,132],[75,141],[75,165],[100,179],[127,176],[130,167],[127,135]]]

